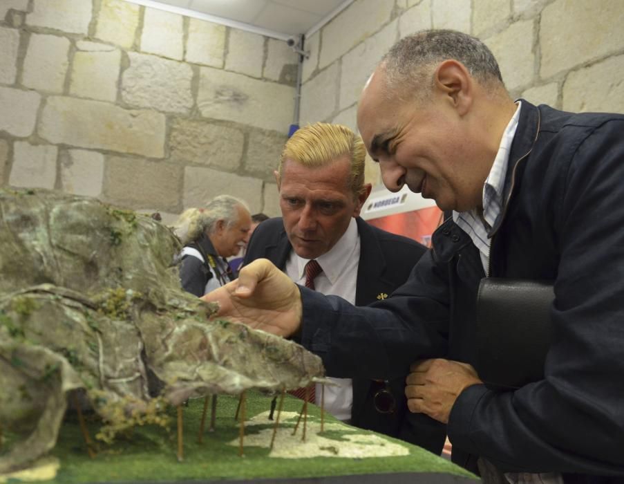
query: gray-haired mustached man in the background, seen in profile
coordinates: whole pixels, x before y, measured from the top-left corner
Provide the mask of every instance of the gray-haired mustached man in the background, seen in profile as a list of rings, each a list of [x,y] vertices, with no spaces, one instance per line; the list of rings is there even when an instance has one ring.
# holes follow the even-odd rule
[[[247,244],[251,226],[245,202],[229,195],[213,198],[204,209],[182,213],[175,230],[185,245],[180,254],[182,288],[200,297],[235,279],[225,258]]]

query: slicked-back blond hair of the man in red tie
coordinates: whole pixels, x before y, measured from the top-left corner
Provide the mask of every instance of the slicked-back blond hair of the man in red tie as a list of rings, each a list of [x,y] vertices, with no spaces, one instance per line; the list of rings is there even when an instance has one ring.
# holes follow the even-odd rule
[[[357,197],[364,189],[366,148],[362,138],[342,124],[315,122],[295,131],[284,146],[278,173],[281,178],[286,160],[304,167],[323,167],[343,156],[351,162],[348,187]]]

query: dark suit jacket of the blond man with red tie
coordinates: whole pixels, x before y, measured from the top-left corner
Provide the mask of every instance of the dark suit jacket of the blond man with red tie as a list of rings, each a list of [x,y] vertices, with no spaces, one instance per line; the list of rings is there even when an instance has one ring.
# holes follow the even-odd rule
[[[412,239],[368,225],[361,218],[356,221],[360,236],[360,258],[355,304],[366,306],[377,301],[382,294],[389,296],[401,286],[415,263],[426,252],[426,248]],[[291,250],[292,245],[286,236],[282,219],[271,218],[256,227],[247,247],[244,264],[265,258],[284,270]],[[381,388],[379,384],[372,380],[354,379],[351,423],[363,429],[401,438],[440,454],[446,429],[431,418],[407,410],[407,370],[401,378],[389,383],[390,391],[397,402],[397,410],[390,414],[375,410],[373,397]]]

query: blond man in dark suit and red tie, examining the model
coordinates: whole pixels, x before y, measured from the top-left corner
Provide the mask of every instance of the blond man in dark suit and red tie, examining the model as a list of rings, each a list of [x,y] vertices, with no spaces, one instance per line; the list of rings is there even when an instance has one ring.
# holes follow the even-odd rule
[[[361,138],[348,127],[315,123],[296,131],[275,172],[282,217],[258,226],[245,263],[270,259],[293,281],[358,306],[386,297],[404,283],[425,248],[359,218],[371,189],[364,183],[365,156]],[[366,327],[361,331],[367,337]],[[352,380],[338,370],[329,376],[339,386],[325,387],[323,400],[340,420],[437,454],[442,450],[444,426],[407,411],[405,375],[390,381]],[[308,399],[321,404],[317,387],[308,390]]]

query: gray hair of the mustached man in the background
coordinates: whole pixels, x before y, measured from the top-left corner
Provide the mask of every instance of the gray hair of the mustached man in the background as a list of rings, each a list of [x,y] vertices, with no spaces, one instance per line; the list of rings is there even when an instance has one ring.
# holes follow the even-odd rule
[[[247,203],[229,195],[219,195],[208,202],[205,208],[189,208],[180,214],[173,224],[173,232],[182,245],[196,241],[202,234],[214,232],[218,221],[224,220],[227,227],[238,223],[238,207],[249,212]]]

